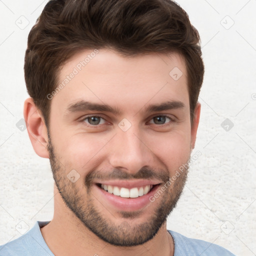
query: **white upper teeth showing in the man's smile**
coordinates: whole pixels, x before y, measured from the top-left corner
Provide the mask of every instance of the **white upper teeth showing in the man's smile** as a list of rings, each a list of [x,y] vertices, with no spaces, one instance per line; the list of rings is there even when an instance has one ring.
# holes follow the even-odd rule
[[[128,197],[136,198],[138,196],[147,194],[152,187],[153,185],[146,185],[146,186],[140,186],[140,187],[132,187],[129,189],[126,187],[118,187],[118,186],[101,184],[101,188],[106,190],[108,193],[119,195],[121,197],[127,197],[127,198]]]

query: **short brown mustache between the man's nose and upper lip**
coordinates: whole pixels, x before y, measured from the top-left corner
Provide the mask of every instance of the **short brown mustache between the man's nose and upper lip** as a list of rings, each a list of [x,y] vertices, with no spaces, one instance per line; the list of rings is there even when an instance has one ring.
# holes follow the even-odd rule
[[[95,179],[112,180],[112,179],[159,179],[166,183],[169,180],[169,172],[164,169],[151,168],[143,166],[135,174],[113,168],[111,171],[95,170],[91,171],[85,177],[85,185],[90,187]]]

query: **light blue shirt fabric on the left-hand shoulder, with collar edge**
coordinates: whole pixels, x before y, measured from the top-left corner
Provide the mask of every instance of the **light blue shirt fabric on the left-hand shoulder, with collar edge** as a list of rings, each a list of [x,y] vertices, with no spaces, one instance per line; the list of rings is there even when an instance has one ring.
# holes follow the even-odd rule
[[[0,246],[0,256],[34,256],[53,255],[40,232],[40,226],[47,222],[36,221],[34,226],[20,237]],[[51,253],[51,254],[50,254]]]

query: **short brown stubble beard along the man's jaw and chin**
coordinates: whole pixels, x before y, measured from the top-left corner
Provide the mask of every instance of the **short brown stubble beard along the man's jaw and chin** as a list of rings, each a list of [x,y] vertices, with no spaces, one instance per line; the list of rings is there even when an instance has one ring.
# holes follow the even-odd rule
[[[53,179],[66,206],[87,229],[103,241],[116,246],[135,246],[152,239],[176,206],[187,178],[188,167],[159,196],[158,199],[161,200],[161,203],[158,203],[159,206],[154,209],[153,214],[142,223],[132,224],[132,219],[139,216],[140,211],[120,211],[118,213],[121,221],[119,219],[111,221],[104,217],[103,212],[107,210],[106,208],[102,206],[99,210],[94,206],[93,201],[97,198],[91,193],[91,186],[86,185],[86,179],[83,189],[81,189],[67,178],[68,172],[66,173],[65,168],[60,165],[59,157],[54,152],[49,134],[47,149]],[[169,177],[165,178],[169,180]],[[147,206],[151,207],[151,205]]]

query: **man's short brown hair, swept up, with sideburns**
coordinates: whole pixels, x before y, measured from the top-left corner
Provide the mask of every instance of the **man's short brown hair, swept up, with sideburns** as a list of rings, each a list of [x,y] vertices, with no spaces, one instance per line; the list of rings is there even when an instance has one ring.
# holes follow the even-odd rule
[[[188,74],[190,117],[203,80],[198,31],[171,0],[50,0],[29,32],[26,88],[48,127],[60,68],[75,53],[114,48],[122,55],[178,52]]]

